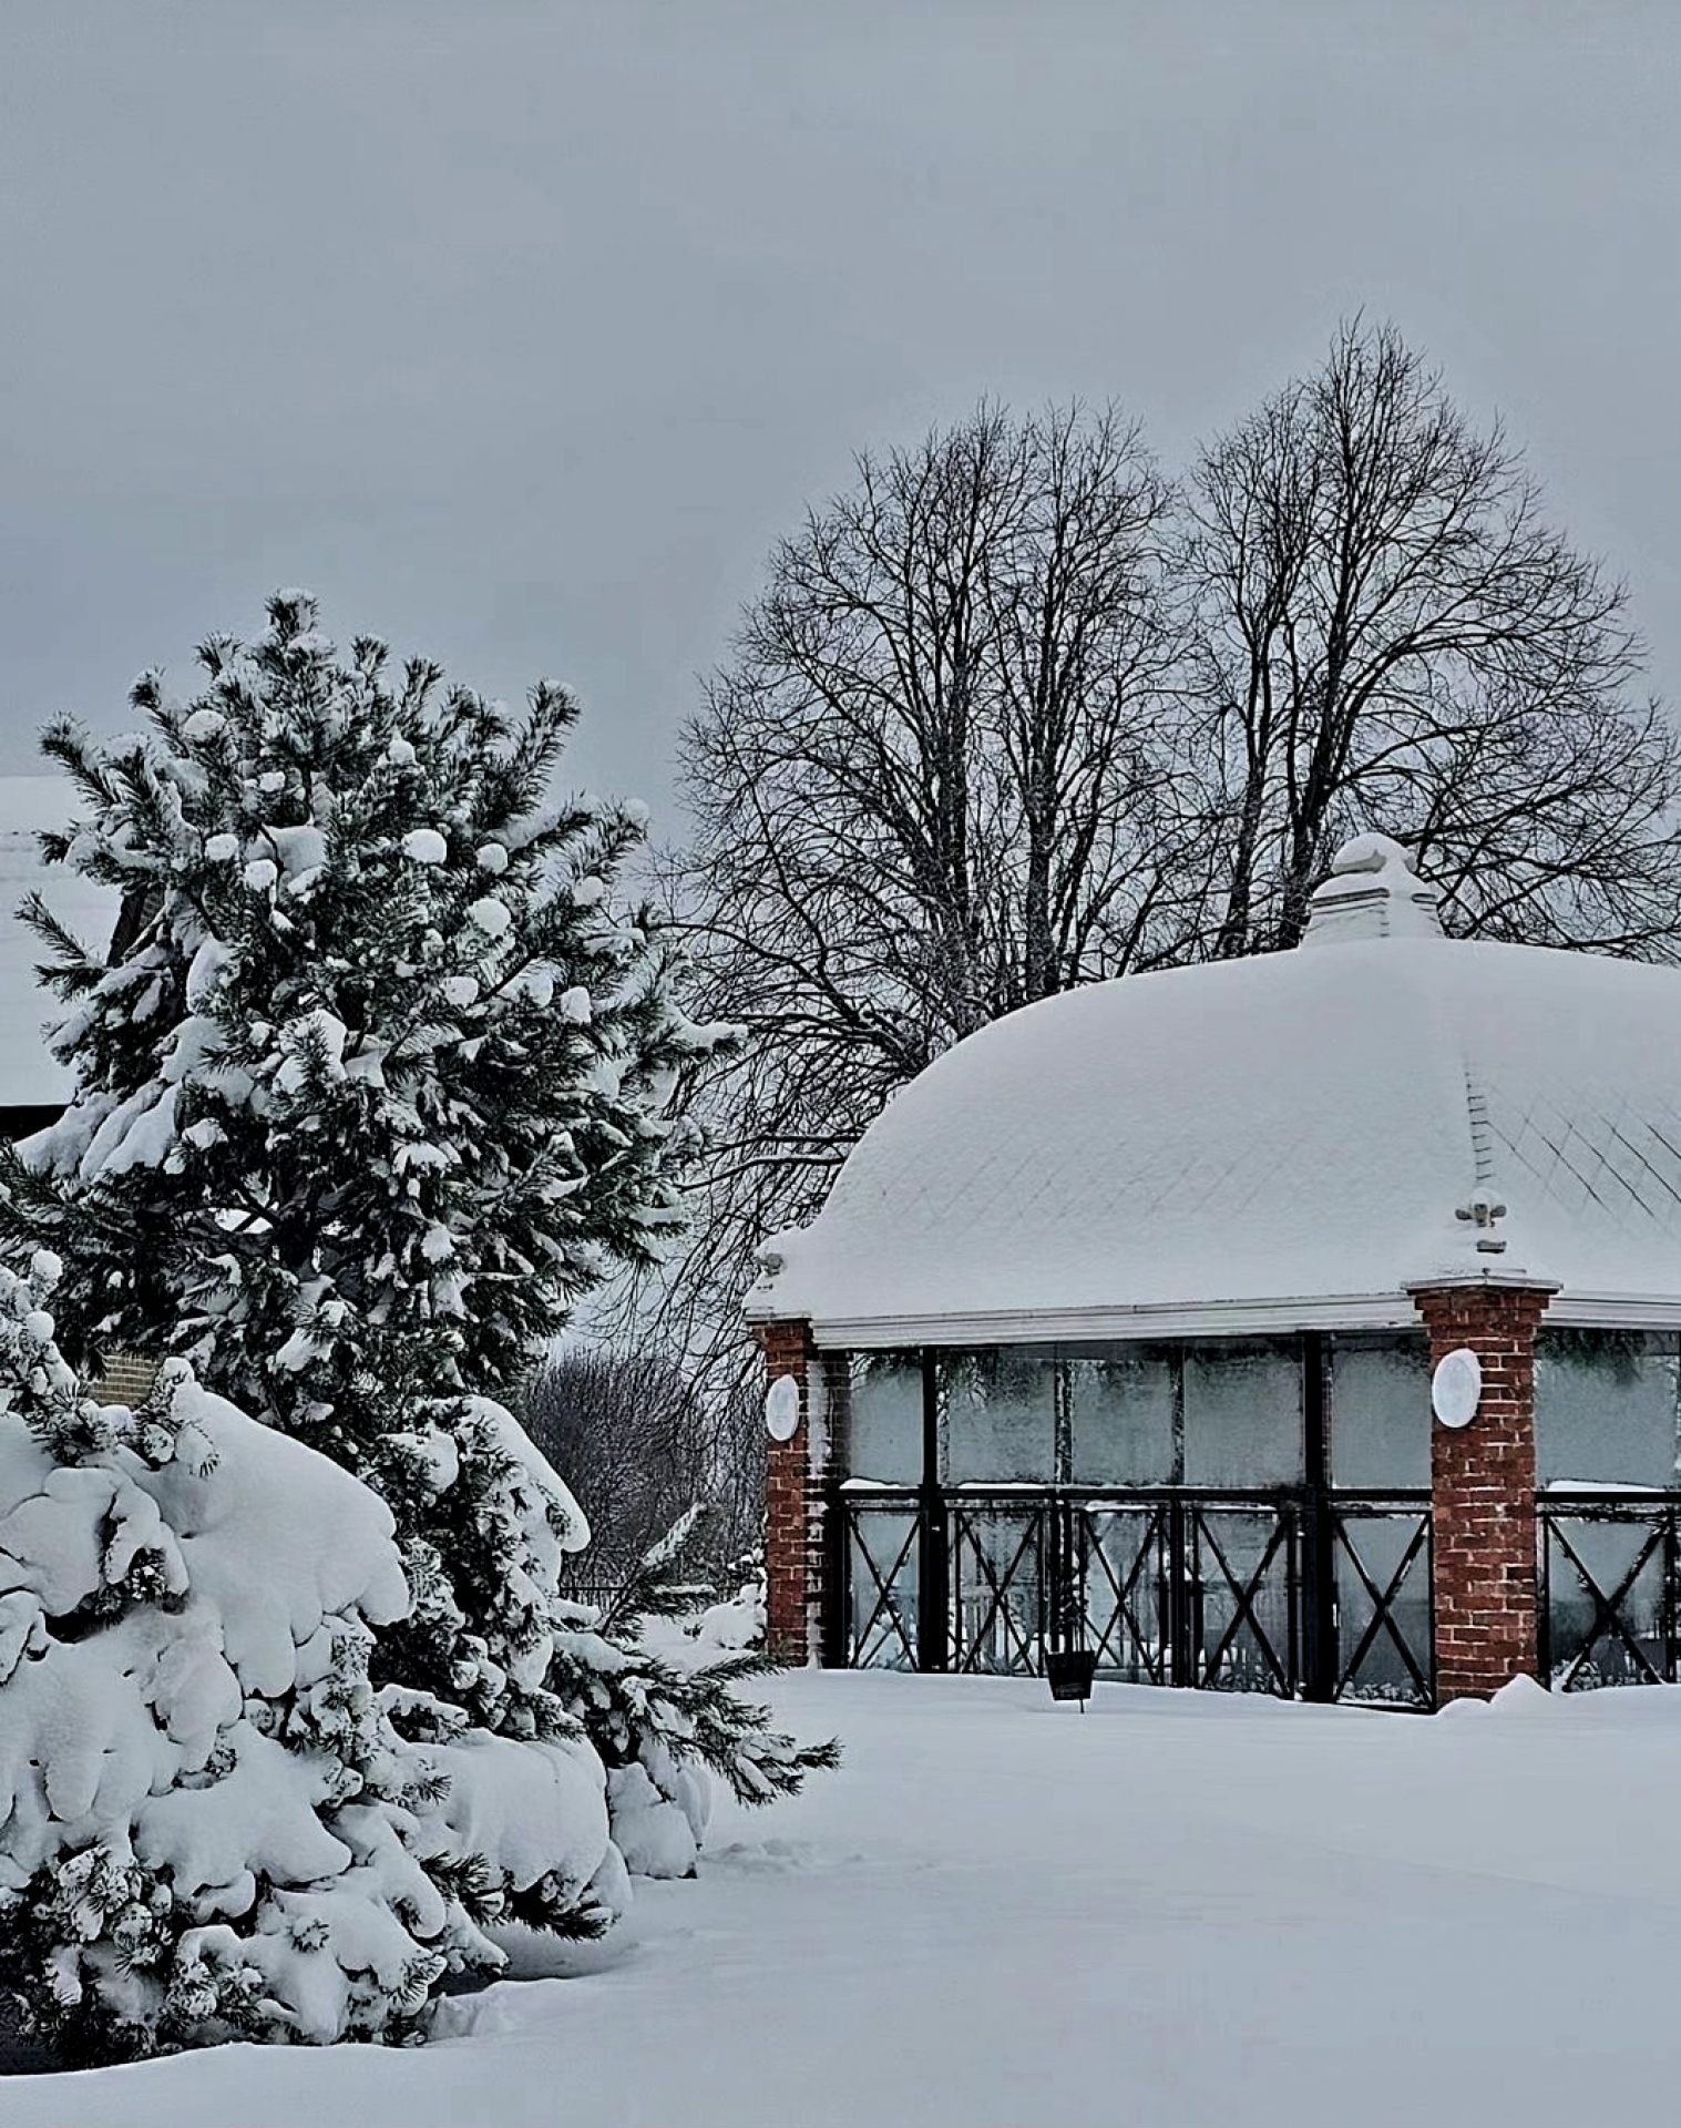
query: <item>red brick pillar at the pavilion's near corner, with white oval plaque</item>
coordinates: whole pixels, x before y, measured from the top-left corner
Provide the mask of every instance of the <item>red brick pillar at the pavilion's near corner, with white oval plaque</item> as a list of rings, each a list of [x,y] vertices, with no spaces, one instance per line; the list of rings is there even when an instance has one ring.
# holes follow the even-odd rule
[[[1409,1287],[1430,1330],[1430,1366],[1466,1347],[1483,1366],[1470,1426],[1430,1419],[1436,1705],[1534,1677],[1534,1332],[1558,1292],[1481,1277]]]

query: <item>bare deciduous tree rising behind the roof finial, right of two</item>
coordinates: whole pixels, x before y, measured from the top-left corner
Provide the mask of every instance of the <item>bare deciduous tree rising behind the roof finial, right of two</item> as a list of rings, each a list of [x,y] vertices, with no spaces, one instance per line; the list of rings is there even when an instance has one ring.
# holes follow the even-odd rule
[[[1624,700],[1626,594],[1392,326],[1211,445],[1175,555],[1198,628],[1204,949],[1287,947],[1351,830],[1413,845],[1464,932],[1668,953],[1677,743]]]

